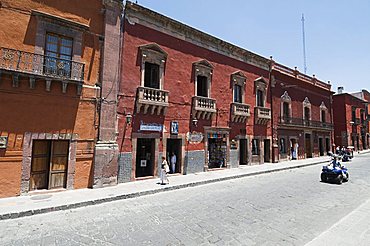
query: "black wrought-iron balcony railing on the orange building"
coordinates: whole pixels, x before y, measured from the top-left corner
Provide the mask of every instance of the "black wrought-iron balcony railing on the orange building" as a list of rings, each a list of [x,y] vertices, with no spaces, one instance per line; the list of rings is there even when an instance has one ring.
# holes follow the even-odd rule
[[[0,69],[60,80],[84,80],[84,64],[0,47]]]

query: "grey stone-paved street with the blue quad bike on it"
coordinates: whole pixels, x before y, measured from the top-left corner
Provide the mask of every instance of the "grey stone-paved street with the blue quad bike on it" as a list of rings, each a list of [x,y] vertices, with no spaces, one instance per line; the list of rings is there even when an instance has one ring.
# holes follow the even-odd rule
[[[342,185],[317,165],[0,221],[0,245],[305,245],[370,198],[370,155],[347,166]]]

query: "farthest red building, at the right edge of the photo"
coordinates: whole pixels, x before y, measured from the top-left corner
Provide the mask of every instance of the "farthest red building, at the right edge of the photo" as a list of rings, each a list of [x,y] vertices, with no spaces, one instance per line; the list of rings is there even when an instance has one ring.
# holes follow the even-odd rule
[[[353,146],[355,150],[369,148],[369,99],[366,90],[358,93],[343,93],[333,97],[334,135],[336,146]]]

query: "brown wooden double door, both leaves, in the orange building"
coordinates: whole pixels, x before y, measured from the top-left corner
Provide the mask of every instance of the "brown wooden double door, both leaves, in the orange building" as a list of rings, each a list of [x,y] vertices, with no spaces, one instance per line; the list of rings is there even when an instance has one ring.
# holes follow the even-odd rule
[[[65,188],[69,141],[34,140],[30,191]]]

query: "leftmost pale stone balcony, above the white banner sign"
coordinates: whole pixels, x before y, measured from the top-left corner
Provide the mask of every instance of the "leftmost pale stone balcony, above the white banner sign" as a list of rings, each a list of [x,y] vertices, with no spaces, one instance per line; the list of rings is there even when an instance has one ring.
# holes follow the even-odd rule
[[[168,108],[168,91],[149,88],[138,87],[136,110],[139,113],[142,109],[144,114],[150,113],[160,115],[166,114]]]

